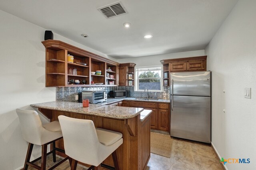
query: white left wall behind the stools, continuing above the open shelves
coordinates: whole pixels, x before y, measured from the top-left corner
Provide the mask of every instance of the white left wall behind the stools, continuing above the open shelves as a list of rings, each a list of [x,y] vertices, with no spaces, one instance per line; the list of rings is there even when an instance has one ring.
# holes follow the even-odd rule
[[[15,109],[55,101],[56,88],[45,87],[45,48],[41,41],[46,29],[1,10],[0,23],[0,170],[14,170],[24,165],[28,147]],[[54,39],[107,57],[55,33]],[[41,118],[44,123],[48,121]],[[34,151],[32,157],[39,156],[40,148]]]

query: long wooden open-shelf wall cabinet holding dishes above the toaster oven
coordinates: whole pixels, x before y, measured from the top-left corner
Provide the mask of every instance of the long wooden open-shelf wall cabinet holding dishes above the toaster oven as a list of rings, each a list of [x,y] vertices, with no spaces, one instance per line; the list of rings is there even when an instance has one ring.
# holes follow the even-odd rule
[[[42,43],[46,48],[46,87],[117,86],[119,63],[62,41]],[[91,74],[96,70],[101,74]]]

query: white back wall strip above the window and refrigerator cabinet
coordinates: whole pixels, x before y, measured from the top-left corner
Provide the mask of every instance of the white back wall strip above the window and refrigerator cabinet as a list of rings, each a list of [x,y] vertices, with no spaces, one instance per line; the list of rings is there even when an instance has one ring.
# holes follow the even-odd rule
[[[203,56],[204,50],[197,51],[186,51],[180,53],[168,53],[162,55],[150,55],[144,57],[134,57],[132,59],[119,59],[118,63],[136,63],[137,66],[156,66],[161,65],[161,60],[164,59],[177,59],[177,58],[185,58],[185,57],[196,57]]]

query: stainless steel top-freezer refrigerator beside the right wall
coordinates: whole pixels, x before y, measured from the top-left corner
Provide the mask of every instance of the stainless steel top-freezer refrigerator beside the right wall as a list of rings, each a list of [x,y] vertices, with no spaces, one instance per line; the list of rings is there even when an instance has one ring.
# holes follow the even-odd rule
[[[211,142],[211,72],[170,74],[170,135]]]

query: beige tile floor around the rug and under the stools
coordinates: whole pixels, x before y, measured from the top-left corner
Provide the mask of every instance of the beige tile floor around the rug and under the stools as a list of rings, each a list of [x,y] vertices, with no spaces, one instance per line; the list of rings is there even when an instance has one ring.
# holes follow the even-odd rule
[[[47,167],[53,164],[51,155],[47,157]],[[60,158],[57,158],[58,161]],[[40,160],[36,163],[40,164]],[[28,169],[35,170],[30,166]],[[55,170],[70,170],[69,162],[64,162]],[[78,166],[77,170],[86,168]],[[151,153],[146,170],[222,170],[222,166],[210,145],[174,138],[171,157]]]

